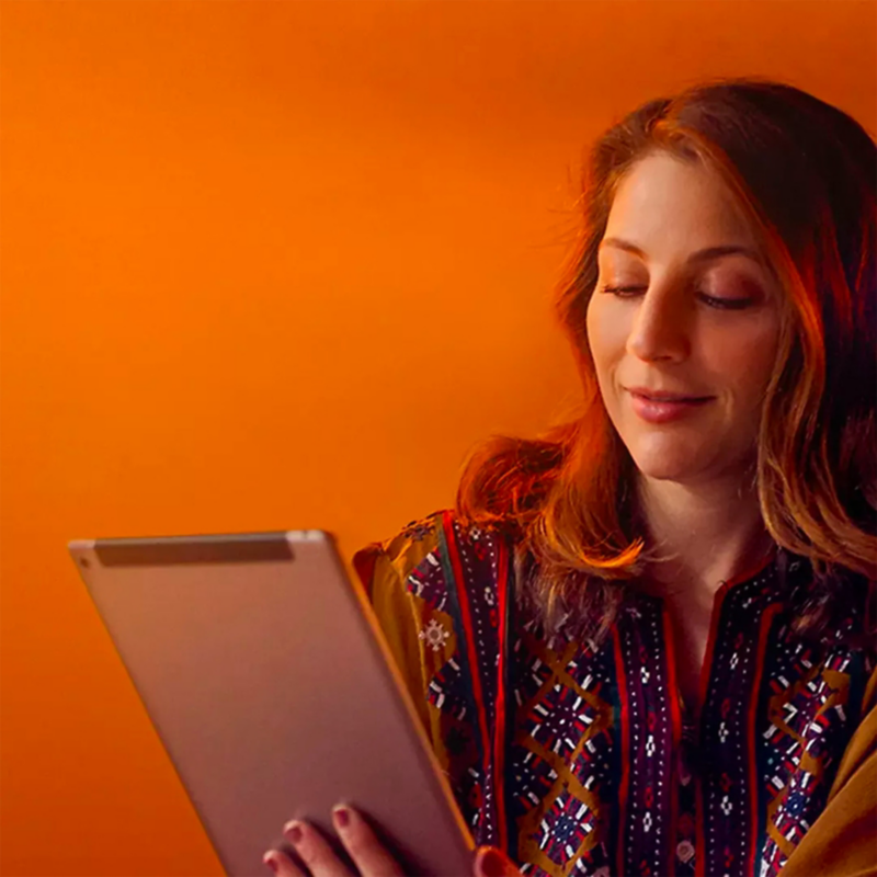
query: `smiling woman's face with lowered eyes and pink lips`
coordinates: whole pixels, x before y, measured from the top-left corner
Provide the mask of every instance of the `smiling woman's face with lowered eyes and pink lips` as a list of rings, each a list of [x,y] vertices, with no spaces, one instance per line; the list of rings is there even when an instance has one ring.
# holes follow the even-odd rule
[[[645,476],[688,485],[742,476],[779,299],[714,171],[659,153],[625,175],[600,246],[588,340],[608,415]]]

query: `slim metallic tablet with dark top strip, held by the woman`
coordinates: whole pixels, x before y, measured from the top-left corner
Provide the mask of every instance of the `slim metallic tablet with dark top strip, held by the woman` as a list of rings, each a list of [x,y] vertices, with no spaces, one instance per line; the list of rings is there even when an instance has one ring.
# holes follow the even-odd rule
[[[474,842],[363,589],[323,531],[73,540],[73,561],[228,875],[344,801],[406,874]]]

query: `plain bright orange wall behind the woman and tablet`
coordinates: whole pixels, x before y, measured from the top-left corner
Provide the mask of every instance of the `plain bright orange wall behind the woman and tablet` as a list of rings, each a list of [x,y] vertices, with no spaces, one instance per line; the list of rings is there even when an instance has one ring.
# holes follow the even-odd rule
[[[581,147],[705,76],[877,128],[877,5],[2,0],[3,875],[218,875],[73,537],[447,505],[576,398]],[[267,874],[267,872],[266,872]]]

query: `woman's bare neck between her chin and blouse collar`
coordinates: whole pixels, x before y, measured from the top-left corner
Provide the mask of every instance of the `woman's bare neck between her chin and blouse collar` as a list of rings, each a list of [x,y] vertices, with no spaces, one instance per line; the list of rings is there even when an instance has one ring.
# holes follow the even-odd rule
[[[663,593],[711,596],[774,547],[758,492],[739,477],[696,487],[641,477],[637,492],[649,547],[659,557],[647,582]]]

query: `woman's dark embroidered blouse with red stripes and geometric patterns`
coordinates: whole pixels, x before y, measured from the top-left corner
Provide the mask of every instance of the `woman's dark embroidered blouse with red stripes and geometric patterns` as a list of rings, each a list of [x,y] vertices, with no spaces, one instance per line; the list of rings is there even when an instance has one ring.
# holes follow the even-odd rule
[[[716,596],[697,727],[654,596],[631,592],[599,648],[549,648],[514,608],[508,542],[451,512],[354,565],[476,843],[527,875],[778,874],[825,806],[875,668],[850,643],[864,596],[830,637],[793,635],[811,570],[782,550]]]

